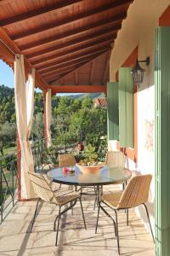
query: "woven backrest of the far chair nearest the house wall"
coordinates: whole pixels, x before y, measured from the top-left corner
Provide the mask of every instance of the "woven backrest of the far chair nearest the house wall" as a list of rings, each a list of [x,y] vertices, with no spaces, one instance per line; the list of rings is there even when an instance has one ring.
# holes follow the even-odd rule
[[[105,164],[115,167],[124,167],[125,156],[121,151],[108,151],[105,157]]]

